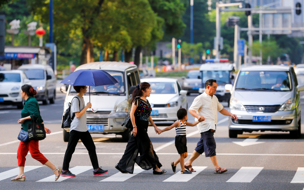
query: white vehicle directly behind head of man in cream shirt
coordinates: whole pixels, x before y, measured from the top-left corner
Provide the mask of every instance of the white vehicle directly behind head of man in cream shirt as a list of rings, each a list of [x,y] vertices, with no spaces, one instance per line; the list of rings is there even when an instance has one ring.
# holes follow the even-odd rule
[[[216,96],[219,101],[230,100],[230,91],[225,89],[226,84],[233,84],[234,76],[233,71],[234,67],[230,63],[206,63],[202,64],[201,68],[201,88],[199,89],[199,93],[204,93],[205,91],[205,83],[209,79],[216,79],[218,84],[218,89],[216,92]]]

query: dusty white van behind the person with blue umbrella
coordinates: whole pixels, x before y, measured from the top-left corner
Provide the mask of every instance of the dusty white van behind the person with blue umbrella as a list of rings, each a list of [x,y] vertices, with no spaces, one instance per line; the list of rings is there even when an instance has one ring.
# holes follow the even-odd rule
[[[122,130],[127,115],[130,112],[132,92],[140,84],[138,67],[124,62],[94,62],[77,67],[80,69],[100,69],[108,72],[119,83],[117,85],[106,85],[90,87],[92,107],[86,111],[86,126],[90,133],[118,134],[122,135],[123,141],[127,142],[131,137],[131,131]],[[69,102],[76,95],[73,87],[61,87],[63,93],[67,93],[64,111]],[[89,93],[83,96],[85,104],[89,101]],[[64,142],[68,142],[70,129],[64,129]]]

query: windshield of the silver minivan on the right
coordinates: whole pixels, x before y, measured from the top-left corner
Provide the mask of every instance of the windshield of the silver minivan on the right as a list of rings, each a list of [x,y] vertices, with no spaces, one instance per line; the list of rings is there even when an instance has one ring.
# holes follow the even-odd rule
[[[241,71],[235,90],[290,91],[290,74],[287,71]]]

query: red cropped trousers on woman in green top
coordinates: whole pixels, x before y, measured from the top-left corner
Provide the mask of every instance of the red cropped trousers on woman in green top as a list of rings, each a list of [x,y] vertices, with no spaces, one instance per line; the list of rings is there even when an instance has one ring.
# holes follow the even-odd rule
[[[39,151],[39,141],[30,141],[30,142],[20,142],[18,151],[17,151],[17,159],[18,159],[18,166],[25,165],[25,156],[27,155],[28,151],[30,151],[32,158],[38,160],[43,165],[48,161],[46,157]]]

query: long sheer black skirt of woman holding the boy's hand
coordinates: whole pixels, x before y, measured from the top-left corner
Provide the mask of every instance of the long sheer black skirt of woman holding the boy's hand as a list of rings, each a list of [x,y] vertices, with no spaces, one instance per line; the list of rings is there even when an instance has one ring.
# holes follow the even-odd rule
[[[158,156],[147,133],[149,121],[143,121],[136,117],[135,123],[137,135],[136,137],[131,135],[118,167],[131,174],[133,174],[135,163],[144,170],[155,169],[156,165],[160,168],[162,165],[158,161]]]

